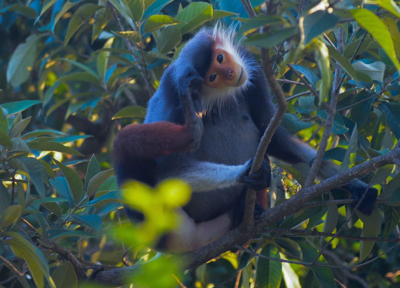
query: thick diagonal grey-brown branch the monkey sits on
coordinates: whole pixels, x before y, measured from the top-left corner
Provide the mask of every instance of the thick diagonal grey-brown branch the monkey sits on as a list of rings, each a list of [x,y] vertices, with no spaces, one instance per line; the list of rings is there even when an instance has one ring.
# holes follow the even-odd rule
[[[254,225],[252,225],[246,232],[243,232],[240,228],[236,228],[207,246],[183,255],[172,256],[172,258],[181,263],[183,270],[202,265],[220,254],[236,248],[236,244],[257,236],[260,232],[265,231],[268,226],[274,224],[281,218],[304,209],[304,204],[313,198],[379,167],[393,164],[399,157],[400,147],[396,147],[384,155],[372,158],[362,164],[340,172],[314,186],[302,188],[288,200],[285,200],[274,208],[264,212],[261,219],[255,221]],[[130,276],[132,276],[132,274],[139,272],[138,268],[140,268],[140,266],[134,265],[130,267],[100,271],[96,274],[93,280],[96,283],[106,284],[112,287],[121,286],[127,283],[126,281]]]

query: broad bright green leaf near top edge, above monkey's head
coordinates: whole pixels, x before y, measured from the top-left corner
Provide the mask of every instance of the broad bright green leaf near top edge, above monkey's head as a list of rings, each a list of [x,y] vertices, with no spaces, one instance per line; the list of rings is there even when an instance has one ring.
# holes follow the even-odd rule
[[[186,34],[212,19],[212,5],[206,2],[193,2],[176,15],[176,19],[187,24],[179,24],[180,33]]]

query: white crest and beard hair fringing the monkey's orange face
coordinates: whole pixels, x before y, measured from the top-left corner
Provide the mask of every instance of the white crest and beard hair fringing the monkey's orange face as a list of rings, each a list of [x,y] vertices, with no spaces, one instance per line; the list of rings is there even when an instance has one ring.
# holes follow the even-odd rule
[[[239,87],[226,86],[224,88],[212,88],[203,84],[201,99],[204,114],[209,114],[207,112],[215,109],[218,109],[221,113],[221,108],[225,105],[238,104],[238,99],[242,97],[243,92],[252,85],[250,80],[254,77],[256,61],[253,58],[246,57],[246,51],[240,49],[239,43],[235,43],[236,26],[231,24],[226,27],[218,21],[214,25],[212,37],[217,42],[217,49],[228,52],[233,60],[244,68],[247,73],[246,82]]]

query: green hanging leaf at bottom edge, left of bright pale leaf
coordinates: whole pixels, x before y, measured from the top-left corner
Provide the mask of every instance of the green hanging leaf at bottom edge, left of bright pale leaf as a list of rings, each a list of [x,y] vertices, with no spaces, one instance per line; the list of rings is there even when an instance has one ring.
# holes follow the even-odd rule
[[[280,259],[278,249],[272,244],[267,244],[261,254]],[[258,258],[257,278],[259,288],[279,288],[282,279],[282,263],[278,261]]]

